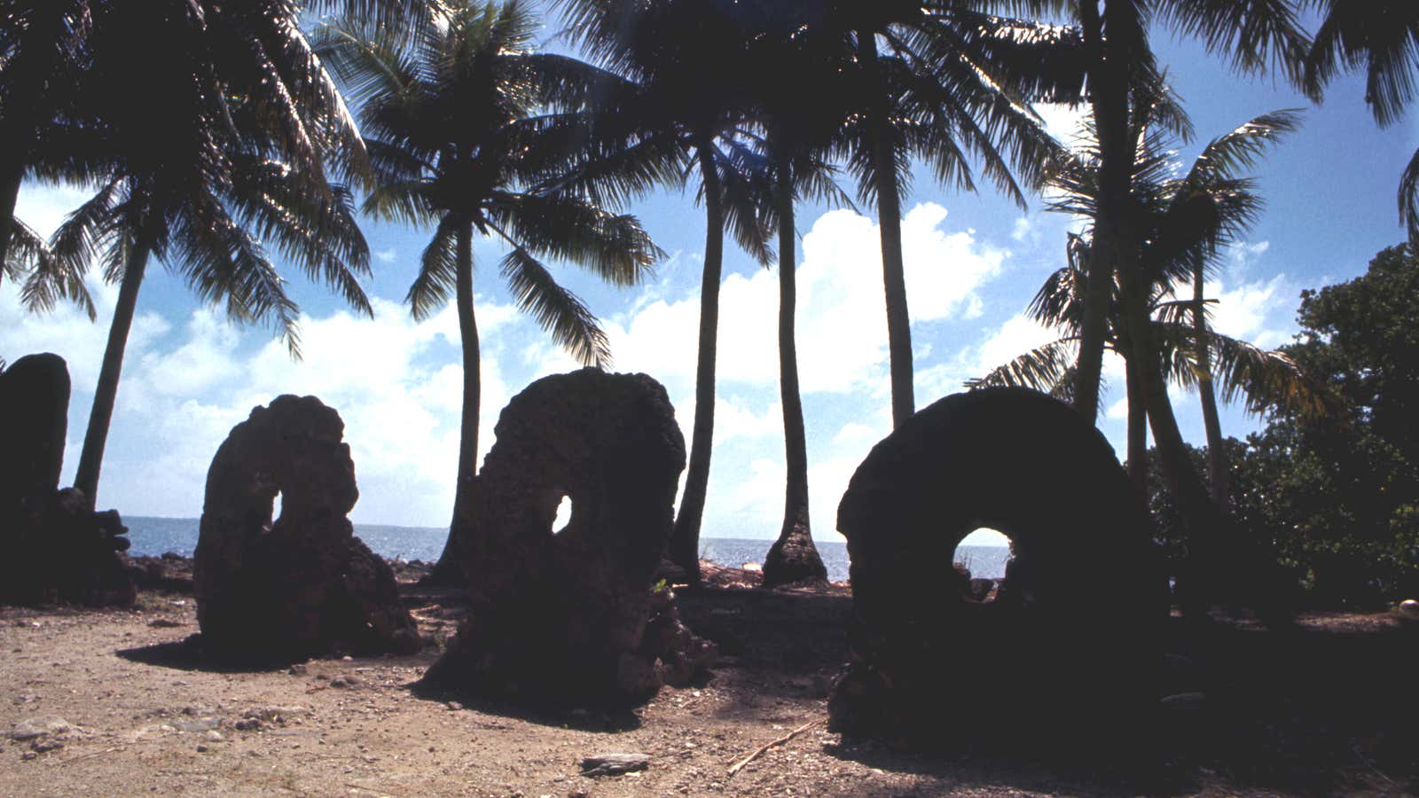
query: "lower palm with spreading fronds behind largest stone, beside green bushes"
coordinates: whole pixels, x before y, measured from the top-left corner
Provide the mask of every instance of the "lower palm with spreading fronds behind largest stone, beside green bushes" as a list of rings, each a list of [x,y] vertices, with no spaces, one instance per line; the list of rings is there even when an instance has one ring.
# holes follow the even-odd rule
[[[1144,91],[1141,88],[1135,89]],[[1130,285],[1127,274],[1115,274],[1110,297],[1110,334],[1105,345],[1121,354],[1127,364],[1128,382],[1128,463],[1135,484],[1147,479],[1148,423],[1158,440],[1159,453],[1169,486],[1181,505],[1210,507],[1208,513],[1193,510],[1189,527],[1195,548],[1210,557],[1216,548],[1213,538],[1222,524],[1225,501],[1206,501],[1206,488],[1196,473],[1186,466],[1186,450],[1178,430],[1165,379],[1196,385],[1203,393],[1203,413],[1210,415],[1209,449],[1220,453],[1220,425],[1216,423],[1213,381],[1223,393],[1233,398],[1244,393],[1250,408],[1261,410],[1288,406],[1293,410],[1324,413],[1331,408],[1328,392],[1314,385],[1296,364],[1281,352],[1264,352],[1235,341],[1206,325],[1206,302],[1196,293],[1192,300],[1175,300],[1174,285],[1192,281],[1200,285],[1226,246],[1239,240],[1261,207],[1254,183],[1237,172],[1250,168],[1266,146],[1297,125],[1297,115],[1280,111],[1257,116],[1240,128],[1213,139],[1181,177],[1175,173],[1168,146],[1166,128],[1182,129],[1181,111],[1165,92],[1152,92],[1152,99],[1135,99],[1148,108],[1141,116],[1171,121],[1135,129],[1139,142],[1130,180],[1130,217],[1142,236],[1132,260],[1139,264],[1142,285]],[[1088,128],[1093,133],[1093,126]],[[1101,153],[1097,138],[1073,155],[1054,185],[1063,197],[1053,203],[1063,210],[1093,219],[1098,209]],[[1091,233],[1097,234],[1097,230]],[[1070,240],[1070,266],[1046,283],[1032,304],[1032,315],[1066,331],[1060,341],[1022,355],[972,385],[1032,385],[1060,392],[1070,375],[1070,355],[1080,341],[1087,294],[1084,266],[1091,243],[1081,236]],[[1216,366],[1216,368],[1215,368]],[[1179,466],[1182,460],[1183,466]],[[1213,469],[1222,470],[1218,459]],[[1218,486],[1216,476],[1213,486]],[[1215,493],[1215,498],[1225,494]]]

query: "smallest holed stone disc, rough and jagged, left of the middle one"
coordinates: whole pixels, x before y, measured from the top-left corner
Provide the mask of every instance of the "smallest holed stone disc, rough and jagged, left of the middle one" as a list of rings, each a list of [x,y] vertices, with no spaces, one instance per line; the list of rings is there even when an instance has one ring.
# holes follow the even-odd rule
[[[193,558],[207,650],[284,659],[419,647],[389,565],[346,518],[359,490],[343,433],[319,399],[278,396],[217,449]]]

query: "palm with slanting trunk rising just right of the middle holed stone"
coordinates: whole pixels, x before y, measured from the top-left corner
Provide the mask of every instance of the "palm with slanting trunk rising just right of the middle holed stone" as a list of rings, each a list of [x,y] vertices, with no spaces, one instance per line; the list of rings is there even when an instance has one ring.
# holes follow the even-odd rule
[[[685,487],[675,514],[668,557],[700,579],[700,528],[714,449],[715,359],[724,233],[763,264],[772,261],[758,207],[766,202],[762,156],[745,145],[746,87],[753,75],[736,71],[731,54],[746,43],[741,20],[711,3],[640,4],[623,0],[562,0],[568,34],[599,64],[637,85],[633,102],[603,104],[603,115],[640,131],[641,142],[623,158],[597,165],[622,195],[657,183],[700,176],[705,206],[705,251],[700,285],[695,366],[695,417]],[[671,142],[670,148],[663,146]],[[668,169],[684,163],[681,169]],[[648,179],[647,179],[648,177]]]

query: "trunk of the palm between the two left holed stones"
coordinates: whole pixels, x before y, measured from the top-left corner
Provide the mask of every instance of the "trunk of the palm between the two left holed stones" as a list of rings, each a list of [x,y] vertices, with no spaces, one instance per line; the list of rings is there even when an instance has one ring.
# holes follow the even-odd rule
[[[478,409],[482,395],[478,319],[473,312],[473,223],[460,223],[455,236],[458,273],[454,278],[454,300],[458,304],[458,337],[463,344],[463,419],[458,425],[458,483],[454,487],[453,521],[448,524],[443,554],[426,579],[438,585],[461,585],[465,581],[463,541],[473,532],[468,511],[473,479],[478,473]]]

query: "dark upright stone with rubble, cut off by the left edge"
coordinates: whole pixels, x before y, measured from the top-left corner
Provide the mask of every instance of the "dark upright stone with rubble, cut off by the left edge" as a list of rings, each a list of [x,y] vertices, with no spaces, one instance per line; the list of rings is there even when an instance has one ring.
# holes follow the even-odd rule
[[[27,355],[0,373],[0,601],[132,603],[118,513],[94,513],[79,491],[58,490],[68,409],[58,355]]]

